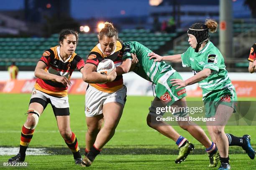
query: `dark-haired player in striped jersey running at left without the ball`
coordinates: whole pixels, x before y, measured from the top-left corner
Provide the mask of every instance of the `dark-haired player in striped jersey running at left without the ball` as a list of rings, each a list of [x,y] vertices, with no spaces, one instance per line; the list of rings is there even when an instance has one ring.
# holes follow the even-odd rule
[[[20,137],[19,153],[9,162],[24,161],[26,149],[30,143],[40,115],[50,103],[57,120],[59,132],[74,155],[75,164],[81,164],[76,135],[70,129],[68,85],[74,69],[83,71],[84,60],[74,51],[77,47],[78,34],[73,30],[62,30],[59,46],[46,50],[35,69],[36,80],[28,108],[28,117]]]

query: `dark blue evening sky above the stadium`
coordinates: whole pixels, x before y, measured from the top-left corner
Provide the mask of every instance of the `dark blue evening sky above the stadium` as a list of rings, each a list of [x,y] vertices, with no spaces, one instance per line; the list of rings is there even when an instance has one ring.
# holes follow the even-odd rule
[[[243,5],[244,0],[233,1],[234,15],[250,13],[249,8]],[[1,0],[0,10],[23,8],[23,0]],[[148,9],[149,0],[71,0],[71,15],[76,19],[141,16],[148,15]],[[121,15],[121,10],[125,11],[124,15]]]

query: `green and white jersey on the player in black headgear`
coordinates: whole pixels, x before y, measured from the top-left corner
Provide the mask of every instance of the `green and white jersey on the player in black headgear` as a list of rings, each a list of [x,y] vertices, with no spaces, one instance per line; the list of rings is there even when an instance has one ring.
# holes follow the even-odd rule
[[[209,77],[198,82],[203,93],[202,100],[211,92],[218,92],[233,86],[228,77],[228,71],[225,69],[224,58],[212,42],[209,41],[199,52],[195,52],[195,49],[189,47],[181,57],[182,66],[191,67],[195,75],[205,68],[214,70]]]

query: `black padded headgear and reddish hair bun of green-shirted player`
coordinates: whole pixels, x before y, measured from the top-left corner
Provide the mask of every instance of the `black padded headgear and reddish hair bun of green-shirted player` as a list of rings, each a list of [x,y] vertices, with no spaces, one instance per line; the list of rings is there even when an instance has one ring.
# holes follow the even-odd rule
[[[205,24],[203,23],[195,23],[189,27],[187,30],[188,34],[192,34],[196,37],[197,47],[195,48],[195,52],[198,52],[198,49],[201,47],[203,42],[208,42],[210,37],[210,32],[215,32],[217,30],[218,23],[212,19],[206,19]]]

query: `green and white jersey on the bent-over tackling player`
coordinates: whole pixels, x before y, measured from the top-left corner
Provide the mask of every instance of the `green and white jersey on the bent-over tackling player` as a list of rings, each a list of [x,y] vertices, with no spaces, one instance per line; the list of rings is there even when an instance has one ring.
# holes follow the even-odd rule
[[[172,70],[175,72],[171,65],[165,62],[154,62],[154,60],[148,60],[148,53],[152,52],[144,45],[136,41],[128,41],[124,43],[123,61],[127,58],[132,59],[131,53],[136,54],[138,58],[138,64],[133,72],[142,78],[157,83],[162,73]]]

